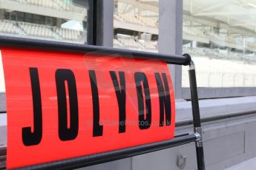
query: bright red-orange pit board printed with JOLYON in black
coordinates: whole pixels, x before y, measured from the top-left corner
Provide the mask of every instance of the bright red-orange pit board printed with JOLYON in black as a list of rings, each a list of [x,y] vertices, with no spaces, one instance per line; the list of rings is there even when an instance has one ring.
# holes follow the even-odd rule
[[[7,169],[174,137],[165,62],[9,47],[1,58]]]

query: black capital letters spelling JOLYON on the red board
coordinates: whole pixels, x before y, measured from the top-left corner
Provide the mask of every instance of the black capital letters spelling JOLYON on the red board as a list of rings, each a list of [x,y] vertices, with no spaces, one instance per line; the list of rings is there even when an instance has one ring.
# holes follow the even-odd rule
[[[33,132],[31,127],[22,128],[22,141],[25,146],[37,145],[42,140],[42,101],[39,84],[39,73],[37,68],[29,68],[30,81],[33,95]],[[119,106],[119,133],[125,132],[125,72],[118,72],[119,81],[115,71],[109,72],[116,92]],[[163,81],[161,79],[161,75]],[[165,73],[155,72],[157,89],[160,102],[160,126],[171,124],[171,99],[168,81]],[[99,124],[99,95],[94,70],[89,70],[91,81],[91,92],[93,100],[93,137],[102,136],[103,126]],[[59,139],[74,140],[79,130],[78,98],[76,92],[76,80],[70,69],[57,69],[55,73],[56,92],[58,101]],[[65,81],[68,83],[69,105],[70,105],[70,127],[68,128],[68,111]],[[151,126],[151,98],[148,80],[144,72],[134,73],[134,83],[137,89],[138,100],[138,123],[140,129],[148,129]],[[145,98],[143,97],[145,96]],[[165,114],[164,114],[165,113]],[[165,120],[164,120],[165,117]]]

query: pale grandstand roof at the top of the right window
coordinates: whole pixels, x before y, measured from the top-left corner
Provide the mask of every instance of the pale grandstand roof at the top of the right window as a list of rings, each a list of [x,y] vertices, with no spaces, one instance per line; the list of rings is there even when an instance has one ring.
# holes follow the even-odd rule
[[[252,35],[256,30],[255,0],[184,0],[184,19]]]

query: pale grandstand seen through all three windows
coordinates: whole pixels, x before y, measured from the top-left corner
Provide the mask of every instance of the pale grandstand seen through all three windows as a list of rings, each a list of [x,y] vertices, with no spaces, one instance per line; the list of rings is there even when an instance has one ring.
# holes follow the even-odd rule
[[[82,2],[79,0],[1,1],[4,1],[4,3],[0,7],[0,35],[79,44],[86,43],[87,32],[85,22],[87,4],[84,2],[84,4],[81,4]],[[134,6],[134,3],[137,4],[137,7]],[[140,3],[145,4],[145,2],[139,1],[133,1],[132,3],[126,0],[115,1],[114,47],[157,52],[159,15],[157,3],[149,4],[150,6],[148,4],[140,5]],[[206,59],[219,61],[220,64],[216,63],[218,66],[221,63],[227,62],[226,64],[233,64],[235,67],[230,70],[224,70],[220,67],[217,70],[219,72],[226,72],[226,74],[243,74],[245,80],[252,79],[250,82],[254,82],[254,84],[247,84],[246,81],[243,81],[243,84],[233,83],[231,86],[255,86],[255,78],[249,76],[252,72],[243,70],[238,72],[236,69],[236,67],[251,67],[256,64],[255,30],[252,30],[252,27],[249,27],[248,24],[231,26],[225,20],[225,16],[222,15],[215,16],[214,19],[209,19],[207,15],[214,15],[214,13],[217,13],[216,10],[218,8],[214,8],[213,5],[212,14],[206,15],[203,12],[200,13],[200,6],[203,3],[206,2],[200,0],[194,1],[194,4],[190,4],[190,1],[184,0],[183,53],[188,52],[194,58],[198,58],[196,60],[199,62],[197,64],[199,75],[206,75],[206,72],[209,72],[207,73],[208,77],[212,78],[212,74],[214,74],[212,72],[215,72],[213,69],[206,70],[206,64],[203,64]],[[240,7],[234,3],[234,6],[241,8],[243,12],[246,12],[246,8],[251,11],[256,10],[254,7],[248,5],[249,2],[243,2],[243,4],[243,7]],[[199,11],[197,15],[191,13],[191,5],[194,5],[194,9]],[[225,10],[226,7],[223,6],[223,9]],[[79,27],[69,27],[69,21],[78,22]],[[255,72],[254,69],[252,71]],[[185,78],[183,80],[186,82]],[[221,80],[216,84],[223,86]],[[214,86],[217,86],[216,84]],[[183,85],[188,86],[186,83]],[[199,83],[199,86],[212,85]]]

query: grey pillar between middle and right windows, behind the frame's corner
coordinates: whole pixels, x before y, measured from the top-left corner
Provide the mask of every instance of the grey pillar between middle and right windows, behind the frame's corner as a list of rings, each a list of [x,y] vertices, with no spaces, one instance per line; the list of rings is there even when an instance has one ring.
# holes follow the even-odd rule
[[[159,1],[159,52],[181,55],[183,51],[183,1]],[[182,68],[169,65],[175,96],[182,94]]]

